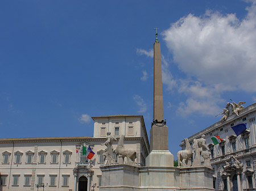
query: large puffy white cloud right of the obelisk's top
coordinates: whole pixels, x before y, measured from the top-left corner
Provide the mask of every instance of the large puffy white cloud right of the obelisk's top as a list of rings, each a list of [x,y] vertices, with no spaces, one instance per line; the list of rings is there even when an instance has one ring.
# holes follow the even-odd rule
[[[255,2],[242,20],[236,14],[206,11],[184,16],[164,31],[179,69],[206,85],[255,92]]]

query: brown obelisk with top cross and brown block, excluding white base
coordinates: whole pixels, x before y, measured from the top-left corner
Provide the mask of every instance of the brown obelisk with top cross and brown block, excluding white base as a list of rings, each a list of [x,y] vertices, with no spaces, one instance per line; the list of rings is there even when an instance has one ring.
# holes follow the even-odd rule
[[[163,87],[161,50],[156,30],[154,43],[154,95],[153,95],[153,122],[150,130],[150,151],[168,150],[168,127],[163,117]]]

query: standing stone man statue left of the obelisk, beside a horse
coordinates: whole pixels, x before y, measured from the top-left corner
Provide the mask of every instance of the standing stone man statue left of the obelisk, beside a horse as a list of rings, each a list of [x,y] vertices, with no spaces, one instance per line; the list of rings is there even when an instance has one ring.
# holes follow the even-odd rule
[[[112,165],[115,164],[115,160],[114,160],[114,155],[113,155],[113,142],[117,141],[116,138],[114,138],[110,132],[107,133],[107,137],[106,137],[106,141],[105,143],[101,143],[101,145],[105,145],[106,149],[103,152],[103,155],[105,156],[105,163],[104,165]]]

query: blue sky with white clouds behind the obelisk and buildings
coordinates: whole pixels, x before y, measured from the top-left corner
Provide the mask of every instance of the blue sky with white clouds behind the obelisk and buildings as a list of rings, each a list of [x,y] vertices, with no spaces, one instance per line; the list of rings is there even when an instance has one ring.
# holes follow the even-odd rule
[[[152,121],[153,28],[176,158],[229,99],[256,101],[256,1],[0,1],[0,138],[92,136],[92,116]]]

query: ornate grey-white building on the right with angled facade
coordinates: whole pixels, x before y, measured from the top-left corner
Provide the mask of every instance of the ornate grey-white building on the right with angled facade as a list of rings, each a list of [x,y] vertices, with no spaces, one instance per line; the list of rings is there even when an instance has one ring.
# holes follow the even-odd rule
[[[232,114],[226,120],[218,121],[188,138],[192,145],[193,139],[205,135],[211,154],[210,163],[214,169],[213,185],[215,190],[255,190],[255,117],[256,103],[242,109],[238,116]],[[237,136],[232,127],[238,124],[246,124],[247,129]],[[223,141],[214,146],[211,139],[214,136],[220,136]],[[185,147],[184,141],[180,146]],[[203,158],[201,161],[203,163]],[[241,165],[236,167],[235,162]]]

